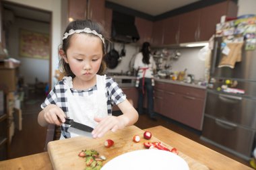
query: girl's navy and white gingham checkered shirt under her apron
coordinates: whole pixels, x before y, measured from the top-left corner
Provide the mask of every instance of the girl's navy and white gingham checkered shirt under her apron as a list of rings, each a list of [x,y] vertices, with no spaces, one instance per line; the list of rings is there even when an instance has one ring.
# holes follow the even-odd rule
[[[41,104],[41,108],[44,109],[49,104],[55,104],[58,105],[61,110],[66,115],[69,115],[68,107],[67,107],[67,96],[65,95],[65,91],[67,91],[67,86],[64,85],[65,78],[59,81],[55,87],[50,91],[49,95],[46,97],[44,102]],[[71,88],[71,93],[75,96],[85,96],[86,93],[88,95],[92,95],[94,91],[97,90],[97,85],[94,85],[90,89],[86,90],[76,90]],[[123,93],[122,89],[119,87],[117,82],[115,82],[112,78],[106,77],[106,97],[107,97],[107,109],[108,109],[108,115],[112,115],[112,105],[117,105],[126,99],[125,93]],[[67,126],[64,127],[61,126],[62,134],[65,138],[69,138],[69,135],[67,134]]]

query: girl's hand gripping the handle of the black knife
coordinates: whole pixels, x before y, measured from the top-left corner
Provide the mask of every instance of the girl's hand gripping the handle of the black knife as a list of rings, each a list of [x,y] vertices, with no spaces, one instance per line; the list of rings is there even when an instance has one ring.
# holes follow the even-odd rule
[[[49,124],[57,124],[61,126],[61,124],[65,122],[65,113],[57,105],[49,104],[43,109],[43,111],[44,119]]]

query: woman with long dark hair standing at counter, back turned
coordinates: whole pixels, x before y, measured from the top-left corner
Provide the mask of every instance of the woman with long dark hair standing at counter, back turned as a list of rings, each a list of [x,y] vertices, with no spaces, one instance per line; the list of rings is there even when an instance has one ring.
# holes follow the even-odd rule
[[[148,97],[148,114],[152,120],[156,120],[154,114],[154,70],[156,64],[150,54],[150,43],[144,42],[141,51],[135,56],[133,68],[137,71],[136,87],[139,90],[138,112],[143,114],[143,97]],[[146,89],[146,91],[145,91]]]

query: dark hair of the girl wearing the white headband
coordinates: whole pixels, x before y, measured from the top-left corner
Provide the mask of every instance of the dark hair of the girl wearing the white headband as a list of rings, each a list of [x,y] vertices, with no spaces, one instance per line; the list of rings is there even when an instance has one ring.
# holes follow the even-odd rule
[[[90,28],[90,30],[95,30],[98,34],[101,34],[103,37],[104,36],[104,29],[102,28],[102,26],[100,24],[98,24],[97,22],[92,22],[90,19],[88,20],[75,20],[73,22],[70,22],[69,25],[67,26],[65,32],[69,32],[69,30],[73,29],[73,30],[83,30],[84,28]],[[64,33],[65,34],[65,33]],[[80,33],[80,34],[88,34],[88,36],[96,36],[94,34],[91,33]],[[65,38],[62,42],[62,47],[61,49],[63,50],[63,52],[65,54],[67,54],[67,49],[69,48],[70,45],[70,38],[72,35],[68,36],[67,38]],[[96,36],[98,37],[98,36]],[[106,41],[106,40],[105,40]],[[106,54],[106,50],[105,50],[105,46],[102,42],[102,54],[103,57]],[[75,75],[72,73],[69,64],[67,64],[65,62],[65,60],[63,58],[61,58],[61,60],[59,61],[59,67],[62,67],[62,71],[63,71],[63,76],[71,76],[71,77],[75,77]],[[106,63],[104,62],[103,58],[102,58],[102,62],[100,64],[100,69],[98,70],[98,75],[103,75],[104,71],[106,70]]]

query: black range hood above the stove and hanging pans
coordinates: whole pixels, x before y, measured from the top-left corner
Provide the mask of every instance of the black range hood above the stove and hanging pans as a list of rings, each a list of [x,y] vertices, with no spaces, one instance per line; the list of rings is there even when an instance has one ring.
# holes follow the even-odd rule
[[[117,42],[137,42],[139,33],[135,26],[135,17],[113,11],[111,37]]]

